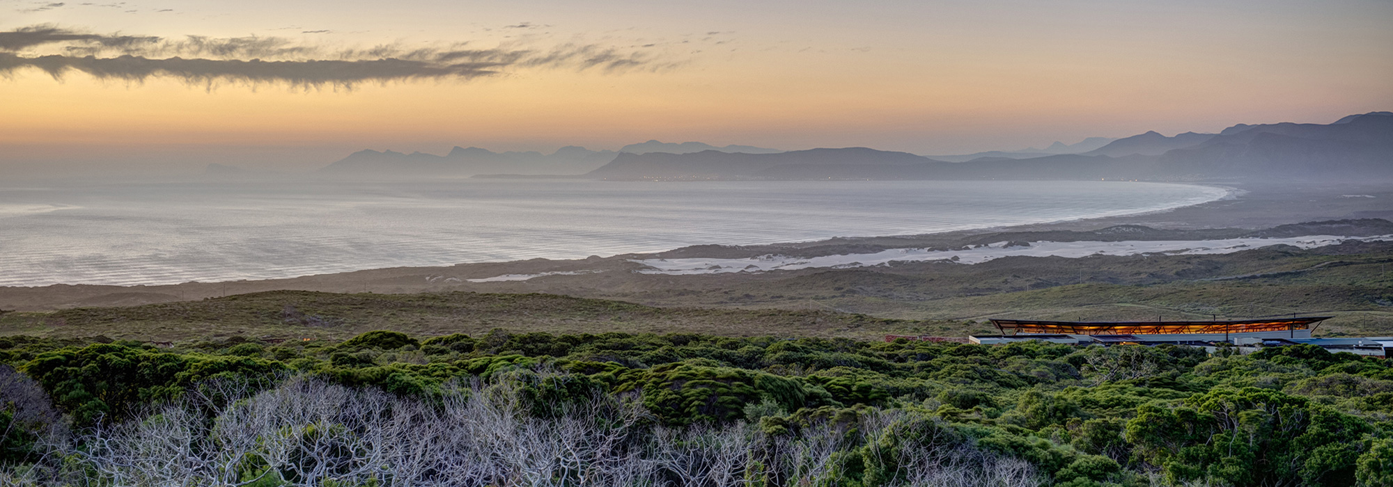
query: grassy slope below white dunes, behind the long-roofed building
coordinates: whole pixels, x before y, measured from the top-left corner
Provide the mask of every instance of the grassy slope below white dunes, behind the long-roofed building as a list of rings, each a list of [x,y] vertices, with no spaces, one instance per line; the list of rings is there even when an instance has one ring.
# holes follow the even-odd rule
[[[1208,256],[1007,257],[974,266],[801,271],[729,285],[720,280],[613,295],[669,306],[836,309],[950,321],[1330,314],[1322,331],[1393,334],[1389,244]]]

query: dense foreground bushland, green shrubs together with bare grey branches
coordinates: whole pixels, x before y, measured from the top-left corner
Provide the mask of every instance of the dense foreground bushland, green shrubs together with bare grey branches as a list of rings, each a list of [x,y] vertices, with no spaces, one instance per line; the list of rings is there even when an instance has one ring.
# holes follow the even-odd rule
[[[372,331],[0,362],[0,484],[1393,486],[1393,369],[1315,346]]]

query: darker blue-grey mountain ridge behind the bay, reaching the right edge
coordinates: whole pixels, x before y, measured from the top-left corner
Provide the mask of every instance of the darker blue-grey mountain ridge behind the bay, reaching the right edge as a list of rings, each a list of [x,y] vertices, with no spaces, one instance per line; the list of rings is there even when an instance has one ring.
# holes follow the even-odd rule
[[[1393,113],[1321,124],[1146,132],[1078,154],[953,163],[865,147],[618,154],[598,179],[1393,179]]]

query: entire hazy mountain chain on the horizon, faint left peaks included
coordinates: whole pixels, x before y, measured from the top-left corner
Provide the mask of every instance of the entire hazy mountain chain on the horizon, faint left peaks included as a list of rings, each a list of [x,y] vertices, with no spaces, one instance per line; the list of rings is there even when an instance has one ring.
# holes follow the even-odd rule
[[[868,147],[777,149],[648,141],[554,153],[454,147],[446,156],[361,150],[327,177],[571,175],[592,179],[1393,179],[1393,113],[1332,124],[1238,124],[1219,134],[1145,132],[1045,149],[925,157]]]

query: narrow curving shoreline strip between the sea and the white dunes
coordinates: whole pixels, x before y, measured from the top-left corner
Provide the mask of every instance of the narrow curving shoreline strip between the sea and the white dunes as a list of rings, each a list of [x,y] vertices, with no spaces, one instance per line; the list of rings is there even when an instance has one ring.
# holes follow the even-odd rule
[[[1217,186],[1217,185],[1216,185]],[[260,291],[325,291],[411,294],[433,291],[556,292],[585,294],[595,282],[623,282],[642,269],[632,259],[749,257],[766,253],[836,255],[865,253],[857,249],[931,248],[988,238],[1002,232],[1094,231],[1114,225],[1142,225],[1166,232],[1202,232],[1216,228],[1270,228],[1341,218],[1393,220],[1393,188],[1386,185],[1224,185],[1226,196],[1209,202],[1159,211],[1133,213],[1067,221],[1035,223],[995,228],[972,228],[919,235],[839,237],[822,241],[770,245],[698,245],[656,253],[628,253],[571,260],[529,259],[514,262],[461,263],[453,266],[384,267],[344,273],[309,274],[274,280],[237,280],[164,285],[53,284],[45,287],[0,287],[0,309],[52,310],[82,306],[131,306],[160,302],[217,298]],[[1343,198],[1369,195],[1373,198]],[[1178,234],[1177,234],[1178,235]],[[1195,238],[1185,238],[1195,239]],[[989,242],[983,242],[989,244]],[[503,276],[546,274],[535,280],[496,280]],[[726,274],[734,276],[734,274]],[[684,278],[657,276],[663,278]],[[687,277],[702,278],[702,277]],[[754,278],[754,277],[749,277]],[[469,280],[482,280],[469,281]],[[591,284],[588,284],[591,282]],[[606,284],[610,285],[610,284]],[[620,284],[614,284],[620,285]]]

